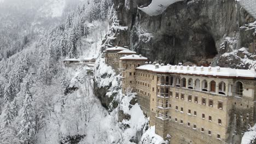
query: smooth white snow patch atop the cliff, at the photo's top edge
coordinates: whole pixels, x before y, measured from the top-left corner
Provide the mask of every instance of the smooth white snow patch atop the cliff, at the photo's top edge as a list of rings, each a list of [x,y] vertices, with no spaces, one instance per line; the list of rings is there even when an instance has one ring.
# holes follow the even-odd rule
[[[152,3],[148,5],[148,7],[138,8],[138,9],[144,11],[144,13],[150,16],[160,15],[166,10],[166,8],[169,5],[176,2],[180,2],[180,1],[184,1],[184,0],[153,0]]]

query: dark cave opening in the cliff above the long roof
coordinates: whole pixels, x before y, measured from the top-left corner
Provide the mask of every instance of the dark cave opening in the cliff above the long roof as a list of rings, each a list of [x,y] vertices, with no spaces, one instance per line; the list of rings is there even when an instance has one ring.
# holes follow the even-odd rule
[[[218,54],[215,40],[211,35],[205,38],[205,58],[214,58]]]

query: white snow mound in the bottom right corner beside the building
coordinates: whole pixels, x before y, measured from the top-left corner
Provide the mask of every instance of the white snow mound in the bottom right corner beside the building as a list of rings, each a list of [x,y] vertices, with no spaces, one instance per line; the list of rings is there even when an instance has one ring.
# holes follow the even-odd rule
[[[242,137],[241,144],[251,144],[256,139],[256,124],[249,129],[249,131],[245,132]]]

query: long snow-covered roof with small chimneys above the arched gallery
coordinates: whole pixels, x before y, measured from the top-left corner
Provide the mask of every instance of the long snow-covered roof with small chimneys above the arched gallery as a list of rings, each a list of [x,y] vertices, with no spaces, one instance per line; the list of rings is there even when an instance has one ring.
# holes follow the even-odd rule
[[[157,64],[156,64],[157,65]],[[184,67],[177,65],[159,65],[156,68],[153,64],[142,65],[136,69],[150,70],[156,73],[170,73],[170,74],[193,74],[193,75],[206,75],[206,76],[225,76],[225,77],[250,77],[256,78],[256,71],[245,69],[231,69],[220,67]]]

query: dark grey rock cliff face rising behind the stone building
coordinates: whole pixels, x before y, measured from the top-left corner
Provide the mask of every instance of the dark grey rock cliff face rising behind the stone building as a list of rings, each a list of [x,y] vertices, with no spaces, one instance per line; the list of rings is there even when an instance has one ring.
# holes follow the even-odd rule
[[[149,0],[114,1],[120,25],[129,27],[116,35],[114,43],[130,46],[151,61],[199,64],[213,58],[213,65],[226,67],[232,61],[227,63],[228,58],[222,57],[225,52],[249,47],[253,41],[255,29],[242,27],[246,24],[246,12],[234,0],[177,2],[158,16],[137,9],[150,3]]]

